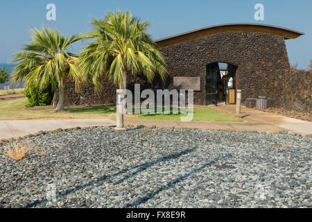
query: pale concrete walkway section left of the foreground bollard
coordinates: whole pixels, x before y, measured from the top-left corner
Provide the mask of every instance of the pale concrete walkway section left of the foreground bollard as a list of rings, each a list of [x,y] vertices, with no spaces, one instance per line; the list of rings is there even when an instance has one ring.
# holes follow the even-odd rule
[[[112,119],[37,119],[37,120],[1,120],[0,139],[24,137],[38,131],[56,130],[58,128],[68,129],[75,127],[90,126],[112,126],[115,125]]]

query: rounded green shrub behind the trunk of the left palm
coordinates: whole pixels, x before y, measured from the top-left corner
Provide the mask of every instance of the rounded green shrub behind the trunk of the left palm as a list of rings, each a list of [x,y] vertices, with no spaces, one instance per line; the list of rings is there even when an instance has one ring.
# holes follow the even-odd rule
[[[51,87],[40,90],[36,84],[27,85],[24,94],[28,99],[26,107],[34,107],[39,105],[50,105],[53,99]]]

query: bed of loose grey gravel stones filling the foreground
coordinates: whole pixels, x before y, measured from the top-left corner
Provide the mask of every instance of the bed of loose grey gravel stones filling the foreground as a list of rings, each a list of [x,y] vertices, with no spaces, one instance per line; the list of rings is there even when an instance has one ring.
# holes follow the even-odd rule
[[[0,207],[311,207],[309,137],[90,128],[19,142],[35,146],[0,152]]]

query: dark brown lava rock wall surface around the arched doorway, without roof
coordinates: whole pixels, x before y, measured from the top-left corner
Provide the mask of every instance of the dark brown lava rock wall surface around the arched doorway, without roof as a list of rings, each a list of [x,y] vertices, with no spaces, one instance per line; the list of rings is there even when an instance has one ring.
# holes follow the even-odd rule
[[[194,104],[206,105],[206,67],[212,62],[225,62],[238,67],[238,88],[242,102],[265,94],[271,107],[310,110],[311,72],[290,69],[283,37],[266,33],[225,32],[198,37],[186,42],[165,46],[162,51],[168,65],[165,83],[156,77],[148,83],[142,75],[128,75],[127,88],[134,91],[135,83],[143,89],[173,89],[174,76],[200,76],[200,91],[194,92]],[[103,81],[99,94],[90,83],[82,92],[75,92],[67,81],[67,101],[71,105],[116,103],[116,87]]]

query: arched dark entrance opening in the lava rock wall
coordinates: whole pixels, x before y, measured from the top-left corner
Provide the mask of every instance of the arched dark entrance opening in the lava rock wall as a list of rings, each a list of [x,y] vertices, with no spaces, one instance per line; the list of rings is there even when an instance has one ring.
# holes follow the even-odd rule
[[[236,70],[231,64],[214,62],[206,67],[206,105],[236,103]],[[233,80],[233,86],[228,87]]]

